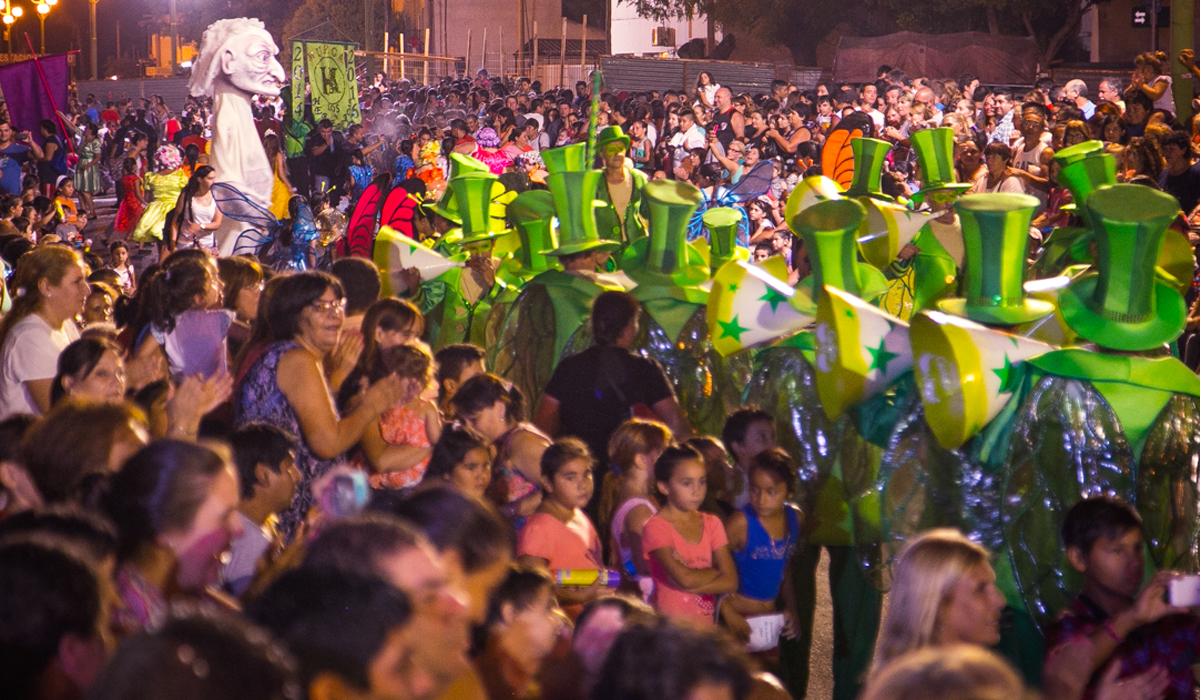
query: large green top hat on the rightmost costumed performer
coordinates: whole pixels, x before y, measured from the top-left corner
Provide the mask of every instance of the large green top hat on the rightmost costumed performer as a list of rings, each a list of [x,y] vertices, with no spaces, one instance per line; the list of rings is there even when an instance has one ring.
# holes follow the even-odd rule
[[[1178,337],[1183,297],[1159,281],[1154,262],[1180,203],[1141,185],[1100,187],[1087,199],[1096,235],[1096,271],[1058,297],[1072,330],[1100,347],[1145,351]]]

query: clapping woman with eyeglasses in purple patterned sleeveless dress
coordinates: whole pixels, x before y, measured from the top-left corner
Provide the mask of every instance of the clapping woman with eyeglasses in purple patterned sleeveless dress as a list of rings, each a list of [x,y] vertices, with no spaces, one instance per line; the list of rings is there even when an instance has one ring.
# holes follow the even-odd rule
[[[324,359],[343,343],[346,292],[328,273],[286,277],[268,301],[272,343],[246,371],[234,399],[234,425],[266,423],[299,437],[296,467],[301,480],[292,508],[281,514],[290,538],[314,504],[312,484],[354,447],[367,426],[396,403],[407,403],[404,383],[390,375],[362,394],[354,411],[337,413],[325,377]]]

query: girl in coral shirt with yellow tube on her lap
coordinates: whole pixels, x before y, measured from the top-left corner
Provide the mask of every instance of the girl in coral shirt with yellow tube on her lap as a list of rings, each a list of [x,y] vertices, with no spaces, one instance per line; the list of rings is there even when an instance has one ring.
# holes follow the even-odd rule
[[[584,603],[599,597],[607,581],[600,536],[583,513],[594,490],[594,463],[588,445],[574,437],[560,438],[546,448],[541,455],[546,495],[517,538],[520,563],[545,567],[552,573],[570,569],[601,573],[590,586],[557,588],[558,600],[568,615],[572,609],[577,614]]]

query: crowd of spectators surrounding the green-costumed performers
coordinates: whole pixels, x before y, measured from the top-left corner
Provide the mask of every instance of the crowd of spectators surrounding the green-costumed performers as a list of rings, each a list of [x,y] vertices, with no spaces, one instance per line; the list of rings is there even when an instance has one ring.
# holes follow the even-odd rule
[[[594,119],[617,134],[599,145],[619,232],[638,226],[622,183],[686,180],[743,208],[742,244],[799,280],[784,207],[842,122],[893,144],[882,184],[898,199],[923,177],[912,134],[948,126],[956,180],[1038,197],[1045,233],[1070,203],[1051,158],[1092,139],[1121,181],[1165,190],[1190,220],[1198,122],[1177,122],[1165,60],[1139,56],[1094,101],[1081,80],[1014,92],[883,66],[876,83],[762,95],[702,73],[695,91],[604,92],[592,114],[584,84],[481,72],[432,88],[377,77],[344,132],[283,98],[256,119],[281,220],[295,197],[347,211],[380,173],[432,195],[451,154],[510,190],[544,187],[541,154],[586,140]],[[1190,52],[1178,60],[1200,77]],[[530,406],[488,348],[436,342],[448,321],[420,285],[384,294],[366,258],[277,271],[217,256],[209,114],[203,100],[175,114],[86,96],[41,139],[0,120],[6,696],[804,696],[773,674],[781,645],[811,639],[792,570],[815,525],[769,413],[694,435],[664,369],[630,351],[641,303],[625,292],[595,298],[594,346]],[[116,215],[96,226],[112,190]],[[439,211],[416,208],[419,238],[452,228]],[[476,286],[496,285],[490,247],[470,261]],[[588,403],[604,382],[630,388],[618,411]],[[1086,498],[1061,534],[1082,590],[1048,634],[1046,696],[1193,696],[1200,617],[1164,600],[1176,574],[1144,585],[1138,513]],[[916,538],[869,668],[839,692],[1032,693],[991,651],[1004,606],[986,549]]]

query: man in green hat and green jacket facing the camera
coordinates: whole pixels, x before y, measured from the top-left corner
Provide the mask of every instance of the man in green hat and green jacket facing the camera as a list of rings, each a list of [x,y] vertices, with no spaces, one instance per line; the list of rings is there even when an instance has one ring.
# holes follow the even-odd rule
[[[596,152],[604,160],[604,181],[596,187],[596,229],[601,238],[629,245],[646,237],[642,193],[647,178],[626,164],[629,137],[619,126],[606,126],[596,134]]]

